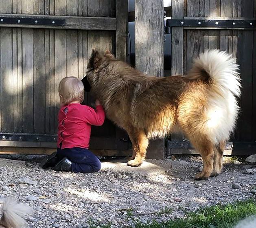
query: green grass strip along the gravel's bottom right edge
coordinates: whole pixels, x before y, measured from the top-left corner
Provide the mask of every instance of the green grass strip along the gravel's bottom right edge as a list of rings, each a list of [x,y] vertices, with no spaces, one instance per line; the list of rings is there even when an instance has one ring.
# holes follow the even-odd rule
[[[167,211],[166,211],[167,212]],[[168,211],[170,212],[170,211]],[[161,213],[159,213],[160,215]],[[239,220],[256,215],[256,200],[249,199],[227,205],[216,205],[201,209],[197,212],[187,213],[184,219],[174,219],[167,222],[150,221],[142,224],[134,219],[135,228],[230,228]],[[131,217],[131,215],[130,215]],[[124,221],[125,223],[125,221]],[[90,226],[91,228],[95,226]],[[114,227],[111,224],[98,225],[101,228]],[[127,226],[126,226],[127,227]]]

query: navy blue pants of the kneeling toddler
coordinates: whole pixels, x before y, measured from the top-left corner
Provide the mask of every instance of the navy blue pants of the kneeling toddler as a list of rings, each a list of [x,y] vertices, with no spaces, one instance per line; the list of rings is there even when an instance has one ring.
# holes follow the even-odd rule
[[[101,169],[101,162],[98,158],[90,152],[90,150],[84,148],[74,147],[72,149],[57,148],[58,160],[66,157],[72,162],[71,170],[74,173],[93,173],[98,172]]]

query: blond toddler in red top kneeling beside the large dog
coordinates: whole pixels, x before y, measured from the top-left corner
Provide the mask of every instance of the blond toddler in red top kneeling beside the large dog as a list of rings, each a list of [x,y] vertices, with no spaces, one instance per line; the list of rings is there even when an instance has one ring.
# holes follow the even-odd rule
[[[96,111],[82,105],[83,97],[84,87],[79,78],[66,77],[61,80],[57,152],[42,161],[42,168],[53,167],[55,171],[81,173],[98,172],[101,169],[101,162],[88,148],[91,127],[101,126],[105,113],[98,100],[95,102]]]

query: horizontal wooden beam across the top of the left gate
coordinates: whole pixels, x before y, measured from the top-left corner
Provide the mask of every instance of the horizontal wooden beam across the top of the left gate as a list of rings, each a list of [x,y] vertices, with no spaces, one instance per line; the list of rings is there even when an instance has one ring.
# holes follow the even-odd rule
[[[17,24],[8,24],[1,18],[17,20]],[[31,19],[35,24],[31,24]],[[51,24],[40,24],[40,20],[51,20]],[[26,21],[23,22],[22,20]],[[32,20],[32,21],[33,21]],[[58,25],[55,20],[64,20],[64,23]],[[20,22],[18,22],[20,21]],[[37,21],[37,22],[36,22]],[[29,24],[23,24],[29,23]],[[24,14],[4,14],[0,13],[1,27],[17,28],[55,28],[55,29],[81,29],[81,30],[116,30],[116,18],[113,17],[72,17],[72,16],[48,16],[48,15],[24,15]]]

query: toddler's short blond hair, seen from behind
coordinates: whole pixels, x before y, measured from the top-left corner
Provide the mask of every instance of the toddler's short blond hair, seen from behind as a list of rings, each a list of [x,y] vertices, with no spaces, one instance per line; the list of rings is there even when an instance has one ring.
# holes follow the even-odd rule
[[[83,102],[84,87],[79,78],[66,77],[61,79],[59,83],[59,97],[62,104],[70,104],[73,101],[79,100]]]

